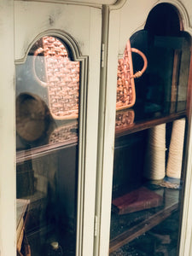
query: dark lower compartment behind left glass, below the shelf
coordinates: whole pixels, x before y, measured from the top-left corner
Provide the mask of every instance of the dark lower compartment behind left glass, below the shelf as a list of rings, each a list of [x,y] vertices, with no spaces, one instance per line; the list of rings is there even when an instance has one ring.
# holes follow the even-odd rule
[[[78,172],[77,162],[68,159],[77,156],[77,149],[74,145],[17,164],[17,198],[30,200],[25,230],[32,255],[46,253],[52,241],[66,255],[75,252]]]

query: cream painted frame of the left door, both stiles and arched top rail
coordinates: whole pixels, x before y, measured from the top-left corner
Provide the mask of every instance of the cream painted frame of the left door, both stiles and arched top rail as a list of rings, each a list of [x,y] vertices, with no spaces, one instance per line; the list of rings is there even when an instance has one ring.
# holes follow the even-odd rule
[[[4,61],[2,81],[6,86],[1,86],[2,102],[0,103],[3,112],[2,123],[4,124],[1,127],[1,142],[4,144],[1,163],[4,172],[0,174],[2,185],[0,203],[4,210],[1,211],[3,225],[1,225],[0,230],[2,237],[0,254],[16,255],[14,63],[17,65],[24,62],[32,44],[42,35],[51,34],[53,36],[63,35],[64,38],[67,38],[68,35],[68,43],[72,44],[74,55],[76,55],[77,60],[83,63],[84,75],[81,78],[83,84],[79,121],[80,171],[76,255],[91,255],[95,220],[96,144],[102,32],[101,6],[53,2],[26,3],[26,1],[3,1],[2,4],[1,13],[6,20],[3,23],[4,34],[1,40],[4,51],[2,55]],[[35,19],[34,13],[36,14]],[[5,45],[9,47],[7,51]]]

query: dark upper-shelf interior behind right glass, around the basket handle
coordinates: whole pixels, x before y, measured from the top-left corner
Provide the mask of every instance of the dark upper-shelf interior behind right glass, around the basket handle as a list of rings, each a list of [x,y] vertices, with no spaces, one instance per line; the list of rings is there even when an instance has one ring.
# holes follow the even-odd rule
[[[162,117],[186,109],[190,37],[181,31],[177,11],[170,4],[157,5],[148,15],[142,31],[131,36],[131,47],[143,51],[148,68],[135,79],[135,120]],[[134,71],[143,60],[132,54]]]

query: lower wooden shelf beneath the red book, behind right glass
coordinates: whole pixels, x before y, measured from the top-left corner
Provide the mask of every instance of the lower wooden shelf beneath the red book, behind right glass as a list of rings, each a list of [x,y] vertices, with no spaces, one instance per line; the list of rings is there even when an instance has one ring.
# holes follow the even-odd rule
[[[166,218],[168,218],[172,212],[178,209],[179,190],[165,189],[165,205],[158,208],[158,211],[144,210],[141,212],[129,213],[126,215],[116,216],[116,221],[111,222],[111,237],[113,236],[113,226],[118,226],[117,223],[127,222],[126,230],[115,230],[114,236],[111,238],[109,253],[117,250],[119,247],[124,246],[128,242],[134,240],[138,236],[154,228],[154,226],[160,224]],[[143,215],[143,218],[141,217]],[[147,217],[147,218],[146,218]],[[132,219],[132,222],[131,222]],[[139,221],[141,219],[141,221]],[[116,222],[116,223],[115,223]],[[120,227],[119,227],[120,229]],[[116,234],[118,234],[116,236]]]

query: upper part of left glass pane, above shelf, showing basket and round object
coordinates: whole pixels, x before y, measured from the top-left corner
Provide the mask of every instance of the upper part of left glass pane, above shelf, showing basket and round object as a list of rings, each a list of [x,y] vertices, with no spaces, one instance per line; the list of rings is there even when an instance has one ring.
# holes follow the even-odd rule
[[[73,56],[68,55],[67,47],[58,38],[44,37],[32,46],[25,64],[17,65],[18,149],[34,148],[50,141],[53,143],[49,136],[55,127],[63,126],[63,129],[66,128],[68,131],[72,129],[71,136],[60,136],[61,142],[65,139],[70,140],[71,137],[77,139],[75,131],[78,131],[79,116],[79,61],[72,61],[70,58]],[[24,106],[25,111],[21,110]],[[35,108],[38,108],[38,113]],[[35,124],[38,129],[42,129],[42,134],[33,126]],[[28,129],[31,125],[32,127]],[[29,134],[31,131],[32,135]],[[28,134],[27,137],[23,137],[25,132]]]

